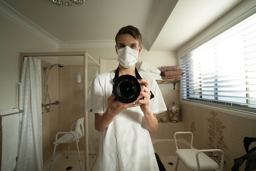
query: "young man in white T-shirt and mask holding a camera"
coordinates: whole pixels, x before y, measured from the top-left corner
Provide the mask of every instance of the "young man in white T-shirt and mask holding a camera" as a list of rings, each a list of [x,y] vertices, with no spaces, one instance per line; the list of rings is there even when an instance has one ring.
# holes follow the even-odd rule
[[[157,131],[156,114],[167,109],[156,81],[142,74],[139,80],[137,75],[138,82],[145,85],[131,103],[121,103],[112,93],[115,76],[138,74],[135,64],[141,42],[136,27],[121,28],[116,34],[118,69],[99,74],[92,82],[86,111],[95,113],[94,125],[100,131],[97,171],[159,170],[149,133]]]

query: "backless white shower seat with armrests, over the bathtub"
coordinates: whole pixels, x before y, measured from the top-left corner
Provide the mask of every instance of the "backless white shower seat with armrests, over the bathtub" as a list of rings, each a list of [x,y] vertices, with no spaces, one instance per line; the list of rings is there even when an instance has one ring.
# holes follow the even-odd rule
[[[191,142],[190,149],[178,149],[176,134],[191,134]],[[222,171],[224,165],[224,152],[220,149],[208,149],[208,150],[198,150],[192,148],[193,143],[193,133],[192,132],[176,132],[174,134],[174,140],[176,145],[176,155],[178,156],[175,171],[177,171],[179,160],[183,162],[183,164],[190,170],[216,170]],[[222,153],[221,156],[221,164],[219,164],[212,160],[209,156],[205,154],[205,152],[216,152],[219,151]]]

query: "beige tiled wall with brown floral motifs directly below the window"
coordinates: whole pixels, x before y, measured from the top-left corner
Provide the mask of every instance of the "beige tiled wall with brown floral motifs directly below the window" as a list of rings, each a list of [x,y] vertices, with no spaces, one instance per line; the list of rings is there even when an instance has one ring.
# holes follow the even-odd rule
[[[226,160],[224,170],[231,170],[234,159],[246,154],[244,137],[256,137],[256,120],[208,109],[207,106],[198,107],[181,102],[179,105],[184,131],[194,134],[193,146],[197,149],[223,150]],[[255,146],[256,142],[253,142],[250,148]],[[245,162],[240,169],[244,167]]]

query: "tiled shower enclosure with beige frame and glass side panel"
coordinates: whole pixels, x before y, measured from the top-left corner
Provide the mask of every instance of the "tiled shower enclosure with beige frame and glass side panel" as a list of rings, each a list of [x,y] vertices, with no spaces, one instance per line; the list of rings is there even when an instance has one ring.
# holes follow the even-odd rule
[[[85,154],[83,170],[91,171],[97,159],[99,133],[94,128],[94,114],[84,109],[91,82],[99,74],[99,63],[83,51],[20,53],[21,68],[25,56],[41,59],[42,103],[45,103],[42,104],[43,163],[52,159],[56,133],[69,131],[74,121],[84,117],[85,137],[78,144]],[[78,73],[83,75],[82,83],[75,82]],[[59,146],[59,151],[67,151],[67,146]],[[70,150],[76,151],[75,145]]]

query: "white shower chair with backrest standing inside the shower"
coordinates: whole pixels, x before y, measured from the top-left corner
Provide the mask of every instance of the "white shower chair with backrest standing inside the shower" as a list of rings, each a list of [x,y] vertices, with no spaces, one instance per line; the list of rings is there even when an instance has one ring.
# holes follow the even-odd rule
[[[58,132],[56,134],[55,142],[53,142],[54,150],[53,150],[53,159],[52,159],[51,170],[50,171],[53,170],[53,161],[54,161],[56,146],[60,145],[60,144],[63,144],[63,143],[69,143],[68,144],[68,151],[67,151],[67,159],[68,159],[69,158],[69,148],[70,148],[70,143],[71,142],[76,143],[76,148],[77,148],[77,153],[78,153],[78,161],[79,161],[79,164],[80,164],[80,170],[83,171],[82,164],[81,164],[81,159],[80,159],[79,148],[78,148],[79,140],[84,137],[83,121],[84,121],[84,118],[78,119],[77,122],[72,124],[71,130],[69,132]],[[72,131],[73,125],[75,125],[75,131]],[[59,134],[64,134],[64,135],[58,139]]]

